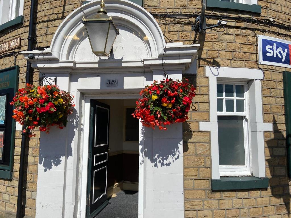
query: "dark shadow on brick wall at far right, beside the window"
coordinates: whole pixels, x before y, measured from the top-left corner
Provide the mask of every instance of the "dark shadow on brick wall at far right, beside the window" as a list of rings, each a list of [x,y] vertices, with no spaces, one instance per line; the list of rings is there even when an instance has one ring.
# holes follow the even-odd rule
[[[280,124],[279,124],[280,125]],[[270,137],[270,140],[266,141],[269,156],[266,157],[266,174],[270,174],[269,186],[274,199],[271,199],[271,203],[276,205],[277,213],[288,213],[290,217],[290,180],[288,178],[288,162],[287,162],[287,150],[286,150],[286,137],[280,130],[273,115],[274,137]],[[285,124],[282,124],[285,126]],[[272,134],[272,133],[271,133]],[[267,155],[267,149],[265,155]]]

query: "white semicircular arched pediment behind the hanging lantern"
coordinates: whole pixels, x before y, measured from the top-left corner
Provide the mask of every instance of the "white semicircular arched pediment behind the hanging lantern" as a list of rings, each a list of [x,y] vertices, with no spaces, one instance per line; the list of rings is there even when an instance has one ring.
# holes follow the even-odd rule
[[[82,17],[93,17],[101,1],[91,1],[74,10],[58,27],[51,44],[52,54],[59,60],[94,61],[96,57],[82,24]],[[142,7],[127,0],[105,2],[107,15],[120,30],[113,44],[114,58],[134,60],[155,58],[164,49],[164,36],[155,19]],[[83,12],[84,11],[84,12]]]

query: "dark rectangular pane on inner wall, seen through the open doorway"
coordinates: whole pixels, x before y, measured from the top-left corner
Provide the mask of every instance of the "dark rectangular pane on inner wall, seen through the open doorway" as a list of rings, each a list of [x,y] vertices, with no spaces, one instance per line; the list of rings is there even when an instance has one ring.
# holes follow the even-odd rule
[[[135,108],[126,108],[125,141],[139,140],[139,120],[132,116],[134,110]]]

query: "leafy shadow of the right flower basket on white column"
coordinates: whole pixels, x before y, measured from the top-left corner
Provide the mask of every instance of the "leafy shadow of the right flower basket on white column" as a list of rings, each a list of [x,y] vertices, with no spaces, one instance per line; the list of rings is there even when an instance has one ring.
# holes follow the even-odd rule
[[[159,128],[152,130],[151,128],[143,127],[139,142],[140,153],[142,154],[140,164],[143,164],[145,158],[148,158],[154,167],[168,167],[178,160],[182,152],[182,140],[171,138],[171,132],[175,134],[175,131],[178,130],[177,127],[178,125],[175,124],[167,126],[168,130],[159,130]],[[152,133],[153,135],[158,134],[159,138],[147,137],[147,135],[152,135]],[[165,137],[162,135],[165,135]],[[169,137],[166,137],[167,135]],[[145,141],[145,138],[148,139]]]

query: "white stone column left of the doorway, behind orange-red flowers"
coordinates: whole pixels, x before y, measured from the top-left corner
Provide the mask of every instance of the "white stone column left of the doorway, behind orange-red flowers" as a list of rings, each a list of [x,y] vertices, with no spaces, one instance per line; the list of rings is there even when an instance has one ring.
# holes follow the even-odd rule
[[[57,85],[70,91],[70,74],[58,74]],[[46,75],[48,76],[48,75]],[[66,128],[50,128],[40,134],[36,218],[74,217],[77,185],[79,96],[75,95],[75,111]],[[76,209],[75,209],[76,210]]]

